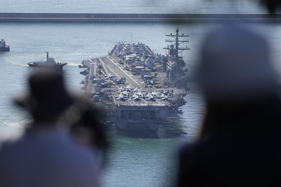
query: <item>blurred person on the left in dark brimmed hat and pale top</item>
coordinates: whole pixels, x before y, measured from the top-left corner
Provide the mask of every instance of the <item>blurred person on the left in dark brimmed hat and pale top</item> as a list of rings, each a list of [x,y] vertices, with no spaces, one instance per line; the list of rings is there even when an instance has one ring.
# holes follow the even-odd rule
[[[38,72],[29,84],[28,96],[16,103],[34,123],[1,142],[0,186],[99,186],[98,150],[106,144],[98,113],[70,96],[57,72]]]

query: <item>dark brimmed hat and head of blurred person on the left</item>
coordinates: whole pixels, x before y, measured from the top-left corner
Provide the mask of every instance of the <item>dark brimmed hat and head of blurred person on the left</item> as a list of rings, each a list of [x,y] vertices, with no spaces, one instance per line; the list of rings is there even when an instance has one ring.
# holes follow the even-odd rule
[[[40,71],[29,79],[30,92],[16,103],[27,108],[35,125],[55,122],[73,99],[64,89],[62,76],[54,71]]]

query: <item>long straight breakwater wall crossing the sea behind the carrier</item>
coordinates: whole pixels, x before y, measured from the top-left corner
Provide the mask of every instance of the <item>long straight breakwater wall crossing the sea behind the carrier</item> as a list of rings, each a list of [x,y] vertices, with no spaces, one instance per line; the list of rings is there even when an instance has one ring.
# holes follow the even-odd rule
[[[0,22],[281,22],[281,14],[0,13]]]

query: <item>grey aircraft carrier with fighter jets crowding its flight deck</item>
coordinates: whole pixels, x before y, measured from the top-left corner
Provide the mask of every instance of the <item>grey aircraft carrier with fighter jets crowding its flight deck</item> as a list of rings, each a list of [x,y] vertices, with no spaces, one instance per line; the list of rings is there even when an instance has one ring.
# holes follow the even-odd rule
[[[187,69],[179,53],[188,50],[189,35],[166,34],[172,43],[155,54],[143,43],[119,42],[106,56],[88,58],[79,67],[85,79],[81,89],[94,101],[107,106],[107,120],[120,129],[148,131],[165,123],[168,116],[182,113],[188,85]]]

